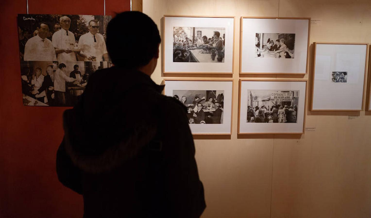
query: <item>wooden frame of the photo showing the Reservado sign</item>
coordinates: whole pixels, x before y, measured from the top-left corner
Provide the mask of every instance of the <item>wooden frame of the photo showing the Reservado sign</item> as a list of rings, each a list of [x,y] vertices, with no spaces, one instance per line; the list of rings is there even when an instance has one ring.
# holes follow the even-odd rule
[[[242,81],[273,81],[273,82],[305,82],[305,100],[304,100],[304,117],[303,117],[303,129],[301,133],[240,133],[240,110],[241,110],[241,83]],[[281,135],[281,134],[304,134],[305,132],[305,119],[306,119],[306,104],[308,95],[308,80],[306,79],[240,79],[238,88],[238,120],[237,120],[237,134],[238,135]]]

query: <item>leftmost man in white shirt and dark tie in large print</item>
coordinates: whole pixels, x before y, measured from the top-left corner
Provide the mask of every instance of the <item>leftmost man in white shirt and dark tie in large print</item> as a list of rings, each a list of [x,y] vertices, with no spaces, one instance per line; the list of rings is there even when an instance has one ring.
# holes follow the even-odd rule
[[[47,39],[49,26],[45,22],[39,24],[36,36],[30,38],[24,46],[24,61],[55,61],[55,50],[52,42]]]

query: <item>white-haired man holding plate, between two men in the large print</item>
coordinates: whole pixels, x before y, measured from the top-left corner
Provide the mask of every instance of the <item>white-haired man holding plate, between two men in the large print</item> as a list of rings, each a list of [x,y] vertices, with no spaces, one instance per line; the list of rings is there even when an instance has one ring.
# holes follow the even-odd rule
[[[59,24],[62,28],[53,34],[52,42],[59,63],[76,61],[76,55],[71,49],[75,46],[75,36],[69,28],[71,19],[67,16],[60,17]]]

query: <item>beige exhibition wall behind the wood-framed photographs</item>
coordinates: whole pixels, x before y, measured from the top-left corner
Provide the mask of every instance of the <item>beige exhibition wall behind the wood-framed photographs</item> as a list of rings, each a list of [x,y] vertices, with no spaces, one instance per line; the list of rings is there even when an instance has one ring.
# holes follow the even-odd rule
[[[164,78],[234,80],[232,135],[195,136],[207,204],[203,218],[371,217],[371,113],[308,110],[313,42],[371,43],[370,11],[369,0],[143,0],[143,12],[161,33],[164,15],[236,19],[233,75],[163,75],[161,60],[152,75],[158,84]],[[311,17],[308,74],[239,75],[241,16]],[[308,79],[305,133],[237,135],[240,78]]]

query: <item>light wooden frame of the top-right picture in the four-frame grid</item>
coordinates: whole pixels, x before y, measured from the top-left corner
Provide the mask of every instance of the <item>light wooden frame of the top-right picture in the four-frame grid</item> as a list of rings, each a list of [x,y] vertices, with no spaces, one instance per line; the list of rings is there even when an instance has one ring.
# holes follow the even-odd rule
[[[243,32],[243,19],[244,18],[253,18],[253,19],[298,19],[298,20],[308,20],[308,46],[307,46],[307,53],[306,53],[306,68],[305,73],[261,73],[261,72],[242,72],[242,32]],[[274,74],[274,75],[305,75],[308,73],[308,66],[309,66],[309,36],[311,35],[311,18],[310,17],[241,17],[240,18],[240,63],[239,63],[239,73],[240,74]]]

